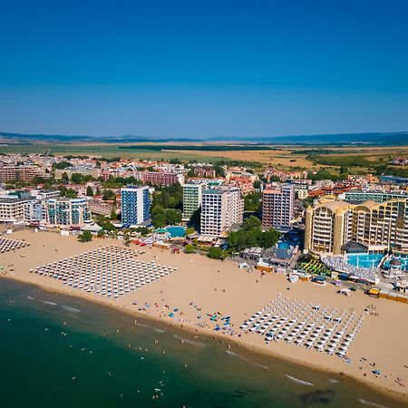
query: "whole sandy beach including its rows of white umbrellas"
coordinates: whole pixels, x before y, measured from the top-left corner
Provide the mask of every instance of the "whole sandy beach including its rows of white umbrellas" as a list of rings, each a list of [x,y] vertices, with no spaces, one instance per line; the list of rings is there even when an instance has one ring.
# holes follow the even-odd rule
[[[337,374],[345,372],[375,387],[405,392],[404,384],[408,384],[408,358],[404,361],[408,338],[405,304],[371,299],[361,292],[349,297],[340,296],[336,294],[337,287],[331,285],[321,287],[310,282],[291,285],[283,275],[248,273],[234,262],[221,262],[197,254],[174,255],[158,248],[144,248],[145,252],[141,253],[135,251],[135,247],[125,248],[121,242],[107,238],[80,243],[75,237],[31,231],[17,232],[9,238],[30,245],[0,254],[0,265],[4,267],[2,272],[6,277],[83,296],[171,325],[182,325],[183,329],[197,333],[221,335],[259,352],[329,369]],[[112,257],[116,259],[114,262]],[[59,267],[63,265],[65,268]],[[44,274],[51,273],[49,268],[53,269],[52,276]],[[106,296],[102,296],[102,278]],[[141,285],[141,278],[144,285]],[[68,285],[70,279],[72,284],[76,279],[76,287]],[[107,296],[108,281],[112,296]],[[118,294],[116,299],[114,284]],[[364,312],[372,303],[378,316]],[[275,307],[270,315],[278,316],[270,322],[271,328],[282,318],[297,320],[285,332],[280,330],[281,341],[274,341],[277,338],[273,337],[266,341],[267,330],[260,334],[256,333],[257,330],[250,331],[255,324],[240,327],[257,312],[265,310],[269,313],[265,309],[268,305]],[[311,309],[316,305],[321,313]],[[331,320],[325,319],[326,316],[331,316]],[[342,321],[336,323],[334,319],[338,317]],[[258,323],[265,325],[265,321]],[[299,324],[302,326],[298,327]],[[276,329],[281,327],[279,325]],[[292,333],[295,328],[299,339]],[[312,330],[307,330],[310,328]],[[308,347],[305,340],[314,343]],[[345,358],[337,358],[342,352],[340,357]],[[373,373],[374,366],[380,374]]]

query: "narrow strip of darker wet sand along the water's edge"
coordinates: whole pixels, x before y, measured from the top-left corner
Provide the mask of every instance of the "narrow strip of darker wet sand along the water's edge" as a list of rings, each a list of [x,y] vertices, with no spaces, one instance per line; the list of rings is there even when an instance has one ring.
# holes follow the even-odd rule
[[[400,403],[407,403],[408,401],[408,395],[406,393],[398,393],[397,391],[387,388],[387,387],[379,387],[377,384],[373,384],[372,382],[369,382],[369,381],[364,382],[360,378],[355,377],[353,374],[345,374],[345,376],[341,376],[341,374],[335,371],[333,368],[324,367],[320,364],[306,362],[304,360],[296,359],[293,357],[287,357],[285,355],[281,355],[277,352],[264,349],[257,345],[248,345],[244,341],[240,341],[240,339],[229,338],[228,335],[219,334],[217,332],[209,332],[206,329],[203,329],[201,327],[195,328],[191,324],[180,324],[180,322],[170,320],[168,318],[157,318],[147,313],[131,310],[125,306],[117,306],[113,304],[112,302],[105,302],[103,300],[92,299],[89,297],[81,296],[80,294],[77,295],[74,292],[64,289],[64,287],[58,289],[58,288],[53,288],[53,287],[47,287],[46,285],[39,284],[39,283],[27,282],[26,280],[19,279],[17,277],[8,277],[5,275],[0,275],[0,277],[15,281],[22,285],[38,287],[44,292],[48,292],[53,295],[63,295],[63,296],[74,297],[74,298],[81,299],[85,302],[91,302],[94,305],[106,306],[106,307],[111,308],[115,312],[120,312],[126,316],[136,317],[135,322],[138,318],[141,318],[142,320],[145,320],[146,322],[149,322],[152,324],[159,323],[160,325],[163,325],[164,327],[175,329],[176,331],[180,332],[180,334],[191,335],[193,336],[193,338],[195,338],[195,335],[199,335],[204,341],[206,340],[208,340],[209,342],[216,341],[217,343],[221,345],[227,345],[227,348],[225,350],[226,352],[231,351],[228,347],[228,344],[229,344],[231,347],[236,347],[237,349],[236,351],[238,350],[242,351],[243,352],[242,354],[244,355],[244,357],[245,357],[245,353],[248,353],[249,355],[251,354],[257,355],[258,357],[261,355],[265,355],[269,358],[277,359],[281,363],[296,364],[299,367],[311,368],[312,370],[322,373],[322,374],[331,374],[332,376],[334,374],[335,377],[340,376],[340,378],[342,378],[343,381],[354,381],[355,383],[362,384],[365,387],[372,389],[376,393],[381,393],[382,395],[386,397],[391,397],[392,399]],[[242,354],[240,356],[242,356]],[[260,364],[258,362],[254,362],[254,363]]]

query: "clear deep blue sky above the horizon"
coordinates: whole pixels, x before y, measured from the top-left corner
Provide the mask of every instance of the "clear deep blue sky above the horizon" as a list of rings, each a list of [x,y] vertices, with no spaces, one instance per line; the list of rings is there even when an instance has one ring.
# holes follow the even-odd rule
[[[407,22],[407,0],[0,0],[0,131],[407,131]]]

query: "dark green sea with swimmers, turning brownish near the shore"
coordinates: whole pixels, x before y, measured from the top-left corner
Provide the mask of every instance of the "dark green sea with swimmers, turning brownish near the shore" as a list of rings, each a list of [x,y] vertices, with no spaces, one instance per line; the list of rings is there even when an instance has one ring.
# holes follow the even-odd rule
[[[403,407],[339,374],[8,279],[0,363],[3,408]]]

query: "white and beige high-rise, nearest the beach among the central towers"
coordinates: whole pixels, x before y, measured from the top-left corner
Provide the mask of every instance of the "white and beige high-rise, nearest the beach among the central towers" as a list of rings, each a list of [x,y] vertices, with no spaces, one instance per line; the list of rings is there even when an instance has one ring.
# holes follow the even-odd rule
[[[202,194],[201,234],[219,236],[234,224],[242,223],[244,200],[237,187],[206,189]]]

